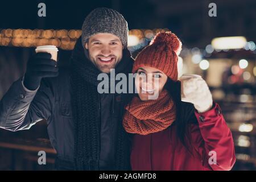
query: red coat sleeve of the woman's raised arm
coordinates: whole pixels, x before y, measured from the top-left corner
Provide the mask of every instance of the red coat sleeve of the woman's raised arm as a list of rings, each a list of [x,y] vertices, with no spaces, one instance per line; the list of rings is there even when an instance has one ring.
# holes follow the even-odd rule
[[[229,127],[221,113],[220,106],[213,103],[212,109],[195,115],[203,137],[201,151],[204,166],[213,170],[230,170],[236,162],[234,141]],[[216,160],[214,157],[216,156]]]

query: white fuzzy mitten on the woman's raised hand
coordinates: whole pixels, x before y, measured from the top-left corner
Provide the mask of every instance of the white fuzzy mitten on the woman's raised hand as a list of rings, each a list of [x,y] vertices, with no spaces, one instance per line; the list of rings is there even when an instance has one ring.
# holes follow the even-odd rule
[[[181,101],[191,102],[199,113],[210,110],[213,105],[212,94],[201,77],[180,77]]]

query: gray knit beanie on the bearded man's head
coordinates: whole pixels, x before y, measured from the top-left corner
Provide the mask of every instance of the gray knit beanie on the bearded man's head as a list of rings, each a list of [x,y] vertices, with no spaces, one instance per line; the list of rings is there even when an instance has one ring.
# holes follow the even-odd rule
[[[100,33],[118,36],[123,47],[127,47],[128,25],[125,18],[117,11],[99,7],[90,12],[82,24],[82,46],[84,47],[90,36]]]

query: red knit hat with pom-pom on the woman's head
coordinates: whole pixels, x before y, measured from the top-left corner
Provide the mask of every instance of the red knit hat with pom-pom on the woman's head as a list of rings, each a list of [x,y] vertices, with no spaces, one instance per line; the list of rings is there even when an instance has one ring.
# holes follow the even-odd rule
[[[159,69],[172,80],[177,81],[177,59],[181,42],[172,32],[160,32],[135,58],[133,73],[140,67]]]

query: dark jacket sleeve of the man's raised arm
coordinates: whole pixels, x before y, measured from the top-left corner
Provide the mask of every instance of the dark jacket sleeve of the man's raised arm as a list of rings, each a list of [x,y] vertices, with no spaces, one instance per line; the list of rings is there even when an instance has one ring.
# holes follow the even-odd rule
[[[42,119],[51,121],[53,94],[42,79],[36,90],[23,85],[23,77],[15,81],[0,101],[0,127],[10,131],[27,130]]]

